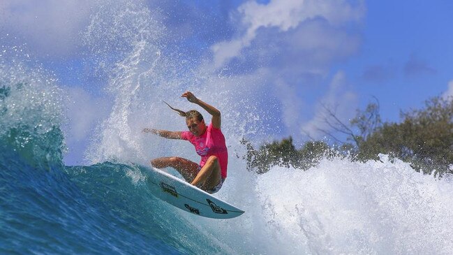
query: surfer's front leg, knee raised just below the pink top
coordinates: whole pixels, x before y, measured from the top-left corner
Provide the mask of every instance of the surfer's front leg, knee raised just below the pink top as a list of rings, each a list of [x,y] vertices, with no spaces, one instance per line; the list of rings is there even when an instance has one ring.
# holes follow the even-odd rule
[[[209,156],[205,166],[201,168],[200,173],[198,173],[191,184],[195,186],[202,184],[202,189],[211,190],[216,187],[219,180],[221,180],[220,163],[218,163],[216,156]]]

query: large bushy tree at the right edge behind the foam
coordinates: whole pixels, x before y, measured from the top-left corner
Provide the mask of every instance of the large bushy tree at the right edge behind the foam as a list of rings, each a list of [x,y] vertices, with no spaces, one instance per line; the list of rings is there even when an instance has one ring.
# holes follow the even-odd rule
[[[453,101],[435,97],[420,110],[402,112],[401,123],[385,123],[359,146],[359,159],[378,153],[413,163],[418,170],[442,175],[453,164]]]

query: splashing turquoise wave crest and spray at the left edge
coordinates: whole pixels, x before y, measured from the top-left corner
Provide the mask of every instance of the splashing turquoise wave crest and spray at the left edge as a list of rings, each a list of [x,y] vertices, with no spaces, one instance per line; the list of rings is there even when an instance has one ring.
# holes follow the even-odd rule
[[[0,59],[0,138],[33,163],[61,163],[64,94],[54,75],[22,47],[3,48]]]

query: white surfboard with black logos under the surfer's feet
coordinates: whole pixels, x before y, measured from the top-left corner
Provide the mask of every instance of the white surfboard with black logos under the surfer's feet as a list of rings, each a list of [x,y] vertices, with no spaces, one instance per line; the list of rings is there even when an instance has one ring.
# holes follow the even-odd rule
[[[230,219],[244,213],[243,210],[170,173],[153,167],[149,169],[147,181],[151,192],[170,205],[201,217],[214,219]]]

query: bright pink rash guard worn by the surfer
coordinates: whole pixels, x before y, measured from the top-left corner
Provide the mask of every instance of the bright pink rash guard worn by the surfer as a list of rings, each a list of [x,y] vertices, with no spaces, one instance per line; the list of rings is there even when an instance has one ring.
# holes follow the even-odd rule
[[[225,136],[220,129],[216,129],[212,124],[207,126],[207,130],[201,136],[194,136],[191,131],[182,131],[181,138],[188,140],[195,146],[197,154],[201,156],[200,166],[205,166],[209,156],[217,156],[221,167],[223,179],[227,176],[228,150],[225,144]]]

